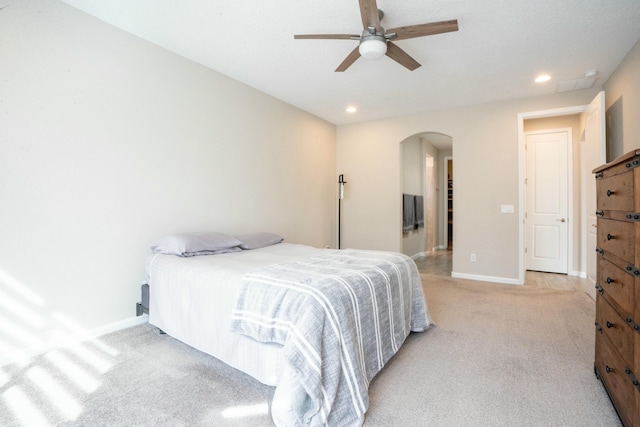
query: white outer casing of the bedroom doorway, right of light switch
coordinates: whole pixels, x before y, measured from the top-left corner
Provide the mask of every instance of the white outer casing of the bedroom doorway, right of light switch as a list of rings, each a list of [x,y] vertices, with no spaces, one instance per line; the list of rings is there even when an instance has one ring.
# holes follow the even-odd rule
[[[526,263],[524,256],[524,248],[525,248],[525,221],[524,221],[524,210],[525,210],[525,197],[526,197],[526,189],[525,189],[525,177],[526,177],[526,161],[527,155],[525,152],[525,132],[524,132],[524,121],[530,119],[541,119],[546,117],[557,117],[557,116],[570,116],[574,114],[584,113],[587,110],[588,105],[576,105],[573,107],[564,107],[564,108],[554,108],[550,110],[540,110],[540,111],[530,111],[526,113],[518,113],[518,283],[524,284],[524,276],[526,271]],[[573,141],[569,141],[569,144],[573,146]],[[571,154],[573,154],[573,149],[570,150]],[[571,157],[572,158],[572,157]],[[571,190],[573,191],[573,190]],[[573,196],[571,196],[573,197]],[[572,207],[569,208],[572,216],[569,221],[573,223],[576,221],[576,218],[573,216],[575,213],[573,212]],[[572,228],[572,227],[571,227]],[[573,234],[571,234],[573,236]],[[570,238],[573,240],[573,237]],[[569,272],[573,273],[573,244],[570,241],[571,250],[567,254],[569,257]]]

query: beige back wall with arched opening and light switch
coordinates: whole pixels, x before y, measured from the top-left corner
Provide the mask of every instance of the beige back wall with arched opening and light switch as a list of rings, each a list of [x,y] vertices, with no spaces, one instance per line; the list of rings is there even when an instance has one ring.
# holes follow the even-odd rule
[[[400,250],[399,143],[420,132],[440,132],[453,138],[454,272],[517,280],[518,113],[585,105],[596,93],[568,92],[339,126],[338,169],[349,176],[350,185],[342,217],[344,247]],[[501,204],[513,204],[516,212],[501,214]],[[470,262],[470,253],[477,254],[477,262]]]

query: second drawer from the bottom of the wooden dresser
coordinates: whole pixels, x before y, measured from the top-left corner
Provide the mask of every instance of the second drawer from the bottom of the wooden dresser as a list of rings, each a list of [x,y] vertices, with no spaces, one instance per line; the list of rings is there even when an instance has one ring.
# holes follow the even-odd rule
[[[633,365],[633,329],[601,295],[596,296],[596,329],[618,351],[624,361]]]

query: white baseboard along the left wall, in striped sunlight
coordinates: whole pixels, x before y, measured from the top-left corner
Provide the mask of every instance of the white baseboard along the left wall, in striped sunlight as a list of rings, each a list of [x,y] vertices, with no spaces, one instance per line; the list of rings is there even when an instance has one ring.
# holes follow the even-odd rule
[[[128,319],[119,320],[107,325],[98,326],[97,328],[93,329],[82,331],[74,330],[69,334],[72,336],[65,337],[64,343],[61,343],[59,341],[49,341],[46,343],[42,343],[42,345],[39,346],[31,347],[28,349],[21,349],[11,355],[0,354],[0,368],[12,364],[24,365],[34,357],[40,356],[50,351],[73,346],[74,344],[78,344],[84,341],[90,341],[99,338],[102,335],[117,332],[123,329],[130,328],[132,326],[141,325],[143,323],[147,323],[148,321],[149,315],[143,314],[142,316],[130,317]]]

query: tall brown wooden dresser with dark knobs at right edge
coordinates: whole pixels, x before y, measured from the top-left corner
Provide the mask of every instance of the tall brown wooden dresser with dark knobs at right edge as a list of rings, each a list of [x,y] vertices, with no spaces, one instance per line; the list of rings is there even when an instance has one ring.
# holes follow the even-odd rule
[[[640,426],[640,150],[593,172],[598,218],[594,367],[625,426]]]

